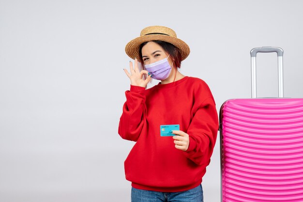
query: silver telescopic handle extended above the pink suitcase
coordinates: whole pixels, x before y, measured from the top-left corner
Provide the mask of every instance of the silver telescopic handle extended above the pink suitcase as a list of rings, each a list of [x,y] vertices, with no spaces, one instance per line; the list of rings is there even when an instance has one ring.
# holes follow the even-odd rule
[[[257,68],[256,57],[257,53],[273,53],[278,55],[278,86],[279,86],[279,98],[284,97],[283,92],[283,49],[279,47],[259,47],[253,48],[250,51],[251,56],[251,81],[252,81],[252,98],[257,98]]]

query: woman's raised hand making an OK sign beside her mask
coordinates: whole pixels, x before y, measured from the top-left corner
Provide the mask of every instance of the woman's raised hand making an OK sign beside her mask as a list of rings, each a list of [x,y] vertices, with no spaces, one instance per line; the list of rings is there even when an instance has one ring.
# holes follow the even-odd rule
[[[128,78],[131,80],[132,86],[146,87],[147,84],[151,81],[152,75],[148,75],[148,71],[139,70],[138,60],[135,58],[135,69],[133,67],[133,62],[129,61],[129,68],[131,73],[129,73],[126,69],[123,69]],[[147,74],[147,78],[143,79],[143,74]]]

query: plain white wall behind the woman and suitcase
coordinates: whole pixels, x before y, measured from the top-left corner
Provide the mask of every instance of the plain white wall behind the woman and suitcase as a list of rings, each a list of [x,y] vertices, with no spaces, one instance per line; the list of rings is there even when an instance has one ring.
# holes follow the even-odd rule
[[[117,131],[130,85],[124,47],[144,27],[188,43],[181,71],[209,84],[218,110],[250,97],[259,46],[284,49],[285,96],[303,98],[302,9],[301,0],[0,0],[0,202],[130,201],[123,161],[134,143]],[[277,96],[275,54],[257,64],[258,96]],[[220,201],[218,143],[205,202]]]

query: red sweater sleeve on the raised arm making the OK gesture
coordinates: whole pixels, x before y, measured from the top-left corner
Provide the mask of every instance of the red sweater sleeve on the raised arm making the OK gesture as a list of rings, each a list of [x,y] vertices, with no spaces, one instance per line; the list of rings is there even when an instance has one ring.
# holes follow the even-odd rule
[[[125,140],[137,141],[144,124],[146,111],[144,87],[132,86],[125,91],[126,102],[120,117],[118,133]]]

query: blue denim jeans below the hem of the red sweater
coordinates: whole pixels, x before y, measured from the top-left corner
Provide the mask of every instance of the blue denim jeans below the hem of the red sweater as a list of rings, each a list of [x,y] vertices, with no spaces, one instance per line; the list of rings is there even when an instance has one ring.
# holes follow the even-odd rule
[[[132,188],[132,202],[203,202],[203,190],[196,188],[181,192],[158,192]]]

